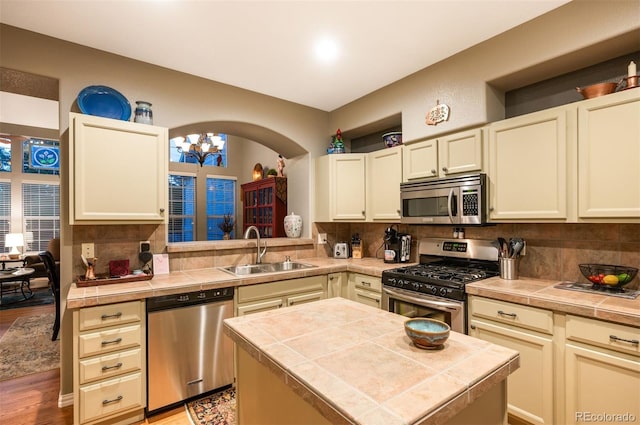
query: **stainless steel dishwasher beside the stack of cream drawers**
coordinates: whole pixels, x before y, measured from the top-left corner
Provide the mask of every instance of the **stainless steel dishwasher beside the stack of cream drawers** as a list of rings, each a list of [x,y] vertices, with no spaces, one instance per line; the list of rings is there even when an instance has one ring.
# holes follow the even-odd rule
[[[233,383],[233,288],[147,299],[147,413]]]

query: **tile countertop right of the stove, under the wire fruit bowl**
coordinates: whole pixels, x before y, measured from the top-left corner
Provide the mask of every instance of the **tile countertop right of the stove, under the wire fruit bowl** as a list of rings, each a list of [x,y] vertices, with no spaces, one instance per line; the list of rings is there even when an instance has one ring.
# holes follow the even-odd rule
[[[559,289],[558,281],[499,277],[465,286],[467,294],[640,327],[640,297],[630,300]]]

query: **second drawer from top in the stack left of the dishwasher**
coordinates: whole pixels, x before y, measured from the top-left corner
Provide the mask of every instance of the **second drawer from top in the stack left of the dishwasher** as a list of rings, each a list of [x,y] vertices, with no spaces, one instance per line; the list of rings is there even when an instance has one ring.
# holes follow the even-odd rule
[[[80,358],[140,346],[142,331],[139,324],[91,332],[78,337]]]

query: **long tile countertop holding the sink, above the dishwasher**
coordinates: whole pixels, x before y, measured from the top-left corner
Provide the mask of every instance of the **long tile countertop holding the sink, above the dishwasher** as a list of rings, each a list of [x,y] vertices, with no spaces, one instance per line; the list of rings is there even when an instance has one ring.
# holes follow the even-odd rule
[[[382,259],[334,259],[308,258],[293,260],[298,263],[312,264],[310,269],[292,270],[279,273],[266,273],[254,276],[238,277],[218,269],[194,269],[155,275],[151,280],[129,283],[113,283],[100,286],[78,287],[73,283],[67,295],[67,308],[75,309],[101,304],[140,300],[161,295],[191,292],[229,286],[253,285],[284,279],[296,279],[335,272],[356,272],[370,276],[381,276],[383,270],[415,263],[385,263]]]

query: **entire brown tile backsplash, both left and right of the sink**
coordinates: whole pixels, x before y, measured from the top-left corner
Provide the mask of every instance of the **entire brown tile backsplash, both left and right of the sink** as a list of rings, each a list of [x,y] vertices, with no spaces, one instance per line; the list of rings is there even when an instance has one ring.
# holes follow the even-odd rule
[[[383,257],[383,237],[388,223],[314,223],[312,241],[308,245],[269,249],[273,261],[284,255],[294,259],[331,257],[336,242],[349,242],[358,233],[365,257]],[[413,237],[412,255],[416,258],[416,241],[425,237],[451,237],[452,226],[398,225],[398,230]],[[326,233],[328,243],[317,245],[317,234]],[[522,237],[527,241],[526,256],[521,258],[520,276],[583,281],[578,269],[581,263],[620,264],[640,268],[640,224],[525,224],[508,223],[484,227],[466,227],[468,239]],[[109,260],[129,259],[131,268],[141,266],[138,260],[140,241],[150,241],[151,251],[166,252],[164,225],[73,226],[73,274],[81,275],[84,267],[80,247],[95,243],[98,257],[96,272],[108,270]],[[234,261],[251,261],[255,248],[170,254],[171,270],[229,265]],[[75,260],[77,259],[77,261]],[[269,258],[266,261],[271,261]],[[639,287],[636,277],[630,287]],[[586,280],[585,280],[586,281]]]

